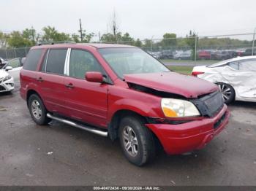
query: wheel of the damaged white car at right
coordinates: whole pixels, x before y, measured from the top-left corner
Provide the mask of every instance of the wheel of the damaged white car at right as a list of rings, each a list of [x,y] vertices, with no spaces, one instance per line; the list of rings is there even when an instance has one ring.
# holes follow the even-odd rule
[[[236,92],[231,85],[222,82],[217,83],[217,85],[222,93],[225,104],[230,104],[235,100]]]

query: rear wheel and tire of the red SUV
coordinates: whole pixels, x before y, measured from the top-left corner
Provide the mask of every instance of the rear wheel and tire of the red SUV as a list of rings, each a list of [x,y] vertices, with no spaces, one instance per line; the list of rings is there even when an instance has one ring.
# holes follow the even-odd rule
[[[30,95],[28,106],[32,119],[38,125],[47,125],[50,122],[50,118],[46,116],[47,109],[37,94]]]

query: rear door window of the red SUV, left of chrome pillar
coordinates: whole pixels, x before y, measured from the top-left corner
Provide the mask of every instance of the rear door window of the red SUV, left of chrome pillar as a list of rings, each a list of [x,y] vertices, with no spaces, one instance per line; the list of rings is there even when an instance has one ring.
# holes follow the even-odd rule
[[[67,49],[50,50],[46,63],[46,72],[63,75],[66,55]]]

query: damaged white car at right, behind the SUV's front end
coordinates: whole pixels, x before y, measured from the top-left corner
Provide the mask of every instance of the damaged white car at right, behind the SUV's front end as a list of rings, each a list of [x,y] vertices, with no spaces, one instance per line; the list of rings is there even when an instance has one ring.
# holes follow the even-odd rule
[[[195,66],[192,75],[219,85],[227,104],[234,100],[256,102],[256,56]]]

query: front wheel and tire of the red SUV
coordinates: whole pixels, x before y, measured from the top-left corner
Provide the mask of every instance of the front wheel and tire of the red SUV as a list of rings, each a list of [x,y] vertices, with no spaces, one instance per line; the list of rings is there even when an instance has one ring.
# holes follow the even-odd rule
[[[120,122],[118,136],[124,155],[130,163],[141,166],[154,159],[154,136],[139,117],[124,117]]]

